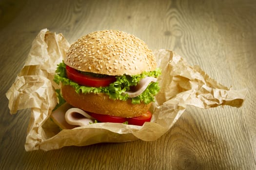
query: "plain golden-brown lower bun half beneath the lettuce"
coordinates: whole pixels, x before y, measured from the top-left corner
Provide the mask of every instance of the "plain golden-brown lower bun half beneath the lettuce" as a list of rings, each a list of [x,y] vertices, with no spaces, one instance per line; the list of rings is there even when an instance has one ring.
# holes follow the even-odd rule
[[[69,104],[84,111],[114,117],[133,118],[146,113],[151,103],[133,104],[132,100],[120,101],[109,99],[104,93],[77,93],[71,85],[62,85],[62,96]]]

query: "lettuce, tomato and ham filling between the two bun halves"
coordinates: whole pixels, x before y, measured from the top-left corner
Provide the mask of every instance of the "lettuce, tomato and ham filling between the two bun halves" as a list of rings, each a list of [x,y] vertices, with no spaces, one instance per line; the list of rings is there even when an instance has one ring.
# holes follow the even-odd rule
[[[158,94],[159,85],[156,78],[161,71],[157,68],[154,71],[145,71],[133,76],[109,76],[82,72],[62,62],[58,65],[56,73],[54,81],[57,84],[61,82],[62,85],[71,85],[77,93],[105,93],[113,100],[132,99],[134,104],[140,102],[148,104],[154,102],[154,96]]]

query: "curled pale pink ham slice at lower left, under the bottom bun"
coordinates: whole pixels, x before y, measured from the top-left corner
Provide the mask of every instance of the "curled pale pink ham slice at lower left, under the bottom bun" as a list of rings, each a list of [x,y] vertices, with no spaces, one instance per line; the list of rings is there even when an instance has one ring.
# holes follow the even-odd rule
[[[93,117],[79,108],[68,109],[65,114],[65,119],[69,124],[79,126],[85,126],[94,122],[92,120],[94,119]]]

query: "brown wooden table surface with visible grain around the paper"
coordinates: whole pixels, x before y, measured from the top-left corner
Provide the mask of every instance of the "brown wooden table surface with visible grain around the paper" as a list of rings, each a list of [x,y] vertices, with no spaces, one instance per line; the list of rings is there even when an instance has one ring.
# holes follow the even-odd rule
[[[158,140],[25,152],[30,110],[10,115],[6,91],[43,28],[72,43],[96,30],[118,29],[199,65],[234,89],[240,108],[189,106]],[[255,0],[1,0],[0,169],[255,170]]]

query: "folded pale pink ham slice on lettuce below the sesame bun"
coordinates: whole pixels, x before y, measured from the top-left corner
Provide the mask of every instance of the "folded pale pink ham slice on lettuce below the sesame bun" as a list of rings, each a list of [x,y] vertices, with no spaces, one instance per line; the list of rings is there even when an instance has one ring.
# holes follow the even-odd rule
[[[157,80],[157,78],[147,76],[141,79],[139,83],[135,86],[135,88],[133,88],[133,90],[126,91],[123,94],[128,94],[129,98],[134,98],[140,95],[143,91],[145,91],[145,89],[151,82],[157,82]]]

